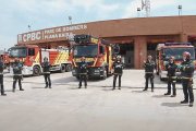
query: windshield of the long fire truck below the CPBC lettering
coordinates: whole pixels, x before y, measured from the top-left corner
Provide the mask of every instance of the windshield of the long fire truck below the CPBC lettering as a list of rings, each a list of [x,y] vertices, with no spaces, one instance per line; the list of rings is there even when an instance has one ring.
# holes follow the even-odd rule
[[[9,49],[10,57],[24,58],[26,57],[26,48],[11,48]]]

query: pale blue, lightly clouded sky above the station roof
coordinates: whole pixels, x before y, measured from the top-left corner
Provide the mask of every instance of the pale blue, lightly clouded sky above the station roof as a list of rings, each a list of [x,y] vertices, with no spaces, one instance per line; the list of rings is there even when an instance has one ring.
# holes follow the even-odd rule
[[[196,0],[150,0],[150,16],[196,15]],[[1,0],[0,50],[17,43],[17,34],[32,31],[117,19],[137,17],[142,0]],[[140,12],[145,16],[145,12]]]

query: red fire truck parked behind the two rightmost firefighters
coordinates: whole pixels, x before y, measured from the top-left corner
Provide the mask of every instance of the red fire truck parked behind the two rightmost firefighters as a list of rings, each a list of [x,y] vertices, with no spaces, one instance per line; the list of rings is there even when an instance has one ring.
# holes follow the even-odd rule
[[[168,63],[169,58],[173,56],[176,64],[179,66],[183,61],[184,51],[188,51],[192,55],[192,60],[195,62],[195,47],[189,43],[166,43],[157,46],[156,70],[161,81],[167,79],[166,64]],[[177,72],[177,76],[180,76],[180,72]]]

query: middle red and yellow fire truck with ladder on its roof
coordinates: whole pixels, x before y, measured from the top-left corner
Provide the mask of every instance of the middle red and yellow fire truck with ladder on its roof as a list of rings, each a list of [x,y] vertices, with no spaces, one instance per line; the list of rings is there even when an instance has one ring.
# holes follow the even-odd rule
[[[72,46],[72,74],[78,79],[78,64],[85,57],[88,63],[88,78],[106,79],[112,71],[112,46],[101,38],[90,35],[76,35]]]

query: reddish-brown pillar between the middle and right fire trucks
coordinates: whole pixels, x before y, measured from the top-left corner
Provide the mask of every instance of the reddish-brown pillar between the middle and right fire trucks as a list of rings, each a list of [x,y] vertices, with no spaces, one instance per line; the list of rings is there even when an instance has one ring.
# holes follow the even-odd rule
[[[134,38],[134,67],[142,69],[147,57],[147,40],[145,36]]]

